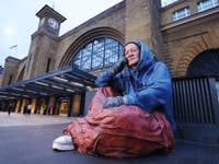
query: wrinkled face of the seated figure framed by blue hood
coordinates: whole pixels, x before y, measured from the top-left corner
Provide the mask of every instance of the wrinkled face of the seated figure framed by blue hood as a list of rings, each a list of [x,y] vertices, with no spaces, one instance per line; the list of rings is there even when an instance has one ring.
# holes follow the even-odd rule
[[[125,57],[128,59],[128,66],[136,66],[140,60],[140,51],[135,44],[128,44],[125,47]]]

